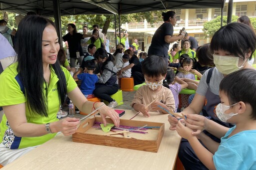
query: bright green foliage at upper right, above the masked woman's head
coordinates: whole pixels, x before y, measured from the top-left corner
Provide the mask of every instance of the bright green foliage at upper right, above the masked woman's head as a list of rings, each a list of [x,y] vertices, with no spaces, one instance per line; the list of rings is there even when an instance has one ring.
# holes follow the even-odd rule
[[[210,37],[220,28],[220,18],[221,16],[217,16],[215,19],[211,21],[205,22],[203,24],[203,32],[208,34]],[[232,22],[236,22],[238,16],[232,15]],[[223,16],[223,25],[226,25],[227,16]]]

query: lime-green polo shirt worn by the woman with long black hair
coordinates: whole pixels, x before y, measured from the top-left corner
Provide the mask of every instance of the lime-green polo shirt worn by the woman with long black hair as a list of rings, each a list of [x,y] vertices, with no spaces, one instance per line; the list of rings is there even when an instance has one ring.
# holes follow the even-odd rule
[[[58,98],[57,82],[58,77],[56,76],[53,69],[50,69],[50,82],[48,87],[44,84],[43,93],[45,95],[47,90],[47,103],[48,117],[42,117],[38,114],[29,111],[27,107],[27,99],[23,92],[20,90],[17,79],[17,63],[11,64],[0,74],[0,106],[9,106],[25,103],[25,114],[28,123],[33,124],[46,124],[50,122],[58,121],[56,115],[59,110],[60,101]],[[61,67],[66,78],[67,92],[72,91],[77,85],[70,73]],[[16,78],[16,79],[15,79]],[[46,88],[46,90],[45,90]],[[10,149],[19,149],[37,146],[45,143],[52,139],[56,134],[47,134],[40,137],[16,137],[12,129],[7,123],[6,116],[3,115],[0,123],[0,142]]]

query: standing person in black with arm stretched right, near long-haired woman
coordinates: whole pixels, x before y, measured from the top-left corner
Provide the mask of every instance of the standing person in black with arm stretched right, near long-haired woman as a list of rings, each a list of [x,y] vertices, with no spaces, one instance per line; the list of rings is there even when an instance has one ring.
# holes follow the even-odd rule
[[[75,61],[78,60],[79,64],[82,64],[83,52],[81,47],[81,39],[84,37],[91,37],[92,35],[80,34],[76,31],[76,26],[73,23],[67,24],[67,34],[65,34],[62,39],[67,41],[69,57],[70,57],[70,67],[75,67]]]

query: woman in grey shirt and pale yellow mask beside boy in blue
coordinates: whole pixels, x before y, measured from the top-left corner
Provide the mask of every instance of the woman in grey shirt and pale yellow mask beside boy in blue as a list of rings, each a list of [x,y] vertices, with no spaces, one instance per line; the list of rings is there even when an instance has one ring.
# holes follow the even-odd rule
[[[198,135],[206,130],[207,136],[220,142],[216,138],[217,136],[213,136],[216,134],[215,127],[220,127],[220,129],[232,127],[231,124],[219,120],[215,114],[215,108],[220,103],[219,83],[229,73],[244,68],[253,69],[247,60],[251,58],[251,51],[255,50],[255,45],[255,33],[245,24],[229,23],[215,32],[210,42],[210,48],[214,52],[213,58],[216,67],[203,74],[192,103],[182,111],[187,117],[186,126],[194,130],[193,135]],[[205,117],[198,115],[204,105],[206,107]],[[177,119],[168,116],[168,121],[169,129],[175,130]],[[207,170],[184,139],[181,141],[178,157],[186,170]]]

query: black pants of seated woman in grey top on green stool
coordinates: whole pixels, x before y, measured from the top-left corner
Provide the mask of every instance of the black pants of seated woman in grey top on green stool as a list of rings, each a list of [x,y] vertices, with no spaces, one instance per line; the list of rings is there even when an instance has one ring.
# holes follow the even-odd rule
[[[94,96],[97,98],[103,99],[108,103],[112,102],[113,99],[110,95],[116,93],[118,91],[118,85],[114,84],[112,86],[106,86],[104,84],[96,84],[95,90],[93,91]]]

